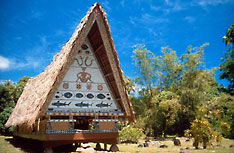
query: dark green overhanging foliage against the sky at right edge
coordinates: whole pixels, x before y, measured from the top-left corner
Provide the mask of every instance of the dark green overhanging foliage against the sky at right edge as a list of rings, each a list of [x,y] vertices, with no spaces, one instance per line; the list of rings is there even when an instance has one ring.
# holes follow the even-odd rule
[[[228,28],[226,36],[223,37],[225,45],[229,45],[230,48],[225,51],[225,55],[221,58],[223,64],[219,65],[220,79],[227,79],[229,81],[228,88],[234,90],[234,24]]]

